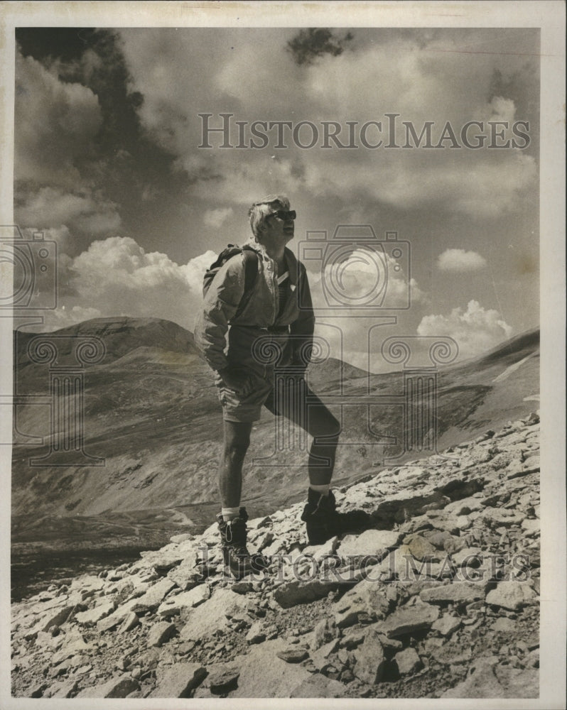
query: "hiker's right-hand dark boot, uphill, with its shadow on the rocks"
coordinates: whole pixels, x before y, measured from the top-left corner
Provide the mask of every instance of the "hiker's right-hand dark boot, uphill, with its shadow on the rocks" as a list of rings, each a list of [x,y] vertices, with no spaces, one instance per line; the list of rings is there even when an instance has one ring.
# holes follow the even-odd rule
[[[363,510],[339,513],[332,491],[329,491],[328,496],[323,496],[322,493],[311,488],[308,490],[307,503],[303,508],[301,520],[306,523],[309,545],[323,545],[323,542],[327,542],[335,535],[355,532],[367,528],[370,524],[370,516]]]

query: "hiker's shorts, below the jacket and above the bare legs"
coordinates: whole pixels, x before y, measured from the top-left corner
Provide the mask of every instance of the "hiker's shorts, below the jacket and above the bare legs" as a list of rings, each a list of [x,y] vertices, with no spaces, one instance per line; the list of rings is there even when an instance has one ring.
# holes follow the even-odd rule
[[[247,382],[239,391],[228,388],[219,375],[215,378],[215,384],[225,422],[257,422],[262,407],[276,416],[284,414],[276,402],[273,371],[266,376],[249,371]]]

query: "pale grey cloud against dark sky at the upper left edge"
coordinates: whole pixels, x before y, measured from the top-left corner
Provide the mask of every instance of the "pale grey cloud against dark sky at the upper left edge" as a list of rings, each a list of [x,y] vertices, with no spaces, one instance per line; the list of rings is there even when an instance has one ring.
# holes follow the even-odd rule
[[[85,62],[92,73],[101,60],[90,50]],[[58,67],[16,52],[14,214],[24,227],[101,236],[121,225],[118,205],[85,170],[96,154],[101,107],[91,89],[61,80]]]

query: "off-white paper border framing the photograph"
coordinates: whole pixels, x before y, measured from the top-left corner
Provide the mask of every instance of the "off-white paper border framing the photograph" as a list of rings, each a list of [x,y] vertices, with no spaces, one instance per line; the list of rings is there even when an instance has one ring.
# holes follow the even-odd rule
[[[565,5],[557,1],[424,2],[0,2],[0,224],[13,224],[13,71],[16,26],[325,26],[541,28],[541,667],[538,700],[137,700],[136,708],[396,707],[565,708]],[[2,277],[5,278],[4,273]],[[11,323],[0,320],[2,392],[11,391]],[[0,447],[0,564],[9,569],[10,457]],[[134,706],[127,700],[10,697],[9,584],[0,613],[0,707]]]

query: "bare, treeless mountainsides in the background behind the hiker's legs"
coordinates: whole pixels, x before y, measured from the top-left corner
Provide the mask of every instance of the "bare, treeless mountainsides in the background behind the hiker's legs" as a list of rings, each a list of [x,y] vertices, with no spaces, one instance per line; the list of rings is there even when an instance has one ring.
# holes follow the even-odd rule
[[[84,393],[85,451],[104,457],[104,466],[30,466],[29,460],[45,454],[47,446],[14,446],[13,540],[57,537],[58,516],[75,518],[80,530],[96,516],[101,537],[104,520],[115,536],[121,519],[129,539],[134,529],[136,535],[151,537],[155,530],[166,535],[187,518],[197,527],[210,522],[218,508],[222,417],[212,373],[198,356],[193,335],[172,322],[124,317],[85,321],[52,335],[97,336],[106,347],[104,359],[85,368]],[[45,398],[48,366],[29,361],[31,337],[15,334],[18,393]],[[538,408],[539,331],[441,369],[436,400],[431,399],[424,417],[417,405],[407,405],[399,372],[369,375],[330,359],[311,366],[308,380],[342,419],[335,484],[344,484],[384,462],[431,453],[423,442],[431,443],[435,433],[441,450]],[[343,405],[341,395],[349,397]],[[43,402],[18,407],[19,441],[25,442],[26,435],[48,437]],[[252,514],[271,512],[305,495],[306,441],[293,427],[287,435],[292,447],[277,452],[274,417],[264,410],[254,425],[244,468],[244,499]],[[411,444],[408,452],[404,441]],[[42,530],[38,520],[43,516]],[[144,525],[136,528],[132,520],[140,518]]]

